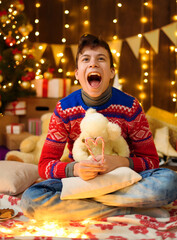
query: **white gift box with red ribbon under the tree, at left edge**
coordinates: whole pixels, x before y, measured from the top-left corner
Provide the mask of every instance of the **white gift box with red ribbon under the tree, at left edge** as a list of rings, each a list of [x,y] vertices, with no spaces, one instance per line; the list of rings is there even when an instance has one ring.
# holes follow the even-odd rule
[[[26,114],[26,102],[14,101],[7,104],[4,115],[25,115]]]

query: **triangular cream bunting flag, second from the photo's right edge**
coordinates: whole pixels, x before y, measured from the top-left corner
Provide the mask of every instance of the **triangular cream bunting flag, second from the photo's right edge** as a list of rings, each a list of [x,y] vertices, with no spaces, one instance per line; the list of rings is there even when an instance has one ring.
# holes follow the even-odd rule
[[[144,33],[143,35],[151,45],[151,47],[154,49],[155,53],[159,52],[159,34],[160,30],[156,29],[147,33]]]

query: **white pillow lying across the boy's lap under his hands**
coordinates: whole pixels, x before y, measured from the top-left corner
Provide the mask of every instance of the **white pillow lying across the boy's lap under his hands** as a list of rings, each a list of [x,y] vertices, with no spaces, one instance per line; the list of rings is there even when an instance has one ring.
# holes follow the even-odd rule
[[[116,168],[88,181],[80,177],[63,178],[60,197],[62,200],[93,198],[130,186],[141,179],[138,173],[128,167]]]

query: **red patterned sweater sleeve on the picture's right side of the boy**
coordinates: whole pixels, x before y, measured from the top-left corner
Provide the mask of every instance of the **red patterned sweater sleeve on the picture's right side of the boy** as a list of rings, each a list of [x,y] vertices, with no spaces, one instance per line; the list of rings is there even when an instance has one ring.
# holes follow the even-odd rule
[[[139,110],[138,110],[139,109]],[[129,123],[129,145],[134,170],[141,172],[159,167],[159,158],[149,123],[141,106],[137,104],[135,118]]]

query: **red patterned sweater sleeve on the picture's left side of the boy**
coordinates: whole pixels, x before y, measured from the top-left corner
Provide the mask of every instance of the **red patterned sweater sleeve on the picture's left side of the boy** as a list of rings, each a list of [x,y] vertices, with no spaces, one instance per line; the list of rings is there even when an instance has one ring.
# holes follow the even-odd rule
[[[68,162],[61,162],[66,140],[68,138],[67,126],[58,111],[54,111],[50,123],[47,138],[44,142],[38,171],[41,178],[65,178],[65,168]]]

